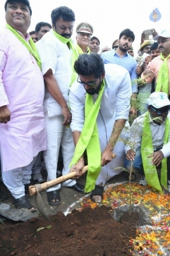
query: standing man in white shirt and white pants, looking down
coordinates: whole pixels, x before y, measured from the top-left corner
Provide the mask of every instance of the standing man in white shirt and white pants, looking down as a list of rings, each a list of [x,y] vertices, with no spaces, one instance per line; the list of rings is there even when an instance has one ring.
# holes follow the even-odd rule
[[[47,149],[44,152],[47,180],[56,179],[59,148],[61,145],[64,168],[62,174],[69,173],[69,163],[74,154],[74,142],[69,124],[71,112],[68,106],[69,86],[76,79],[74,61],[78,53],[74,49],[71,35],[74,26],[74,12],[66,6],[52,11],[52,28],[36,45],[42,62],[45,79],[45,124]],[[76,180],[67,180],[64,186],[83,193],[83,186]],[[60,184],[47,189],[48,204],[59,205]]]

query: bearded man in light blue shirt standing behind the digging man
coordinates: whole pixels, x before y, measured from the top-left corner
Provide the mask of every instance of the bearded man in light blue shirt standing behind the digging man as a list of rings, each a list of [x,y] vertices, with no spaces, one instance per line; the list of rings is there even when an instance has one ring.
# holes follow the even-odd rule
[[[120,65],[128,70],[131,81],[137,79],[136,74],[136,66],[137,63],[132,58],[130,54],[128,54],[128,50],[130,49],[132,42],[134,42],[134,33],[130,29],[124,29],[120,33],[119,36],[119,44],[118,48],[115,50],[111,50],[108,52],[104,52],[101,54],[101,58],[103,58],[104,64],[113,63]],[[131,96],[131,109],[130,113],[132,115],[136,115],[136,93],[138,92],[138,88],[136,83],[132,85],[132,96]]]

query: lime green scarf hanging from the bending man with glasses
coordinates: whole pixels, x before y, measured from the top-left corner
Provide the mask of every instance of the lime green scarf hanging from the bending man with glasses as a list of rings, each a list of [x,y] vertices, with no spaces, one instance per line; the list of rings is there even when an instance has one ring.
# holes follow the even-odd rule
[[[104,92],[104,79],[96,102],[93,102],[92,95],[86,94],[85,99],[85,123],[80,138],[76,145],[74,156],[70,167],[78,163],[78,160],[87,149],[88,173],[85,184],[85,192],[89,193],[95,187],[99,173],[101,172],[101,147],[99,143],[99,134],[97,129],[97,115],[101,106],[101,98]]]

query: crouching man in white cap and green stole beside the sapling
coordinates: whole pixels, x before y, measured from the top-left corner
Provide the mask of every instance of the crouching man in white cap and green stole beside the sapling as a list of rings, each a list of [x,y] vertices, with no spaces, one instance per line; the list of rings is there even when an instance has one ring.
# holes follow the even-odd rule
[[[148,111],[134,120],[125,147],[125,168],[138,170],[139,184],[147,184],[162,193],[170,192],[170,101],[167,94],[154,92],[148,98]],[[157,167],[161,164],[160,182]]]

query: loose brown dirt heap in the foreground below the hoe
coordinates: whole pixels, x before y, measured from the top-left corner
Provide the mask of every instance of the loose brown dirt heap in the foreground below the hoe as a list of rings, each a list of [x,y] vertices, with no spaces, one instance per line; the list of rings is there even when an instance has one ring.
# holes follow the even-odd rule
[[[111,208],[88,205],[26,223],[5,221],[0,226],[0,255],[17,256],[121,256],[132,255],[130,239],[136,237],[137,212],[125,213],[120,223],[113,220]],[[51,227],[50,227],[51,226]],[[38,228],[44,227],[38,231]],[[38,231],[38,232],[37,232]]]

